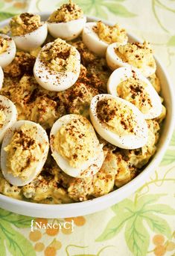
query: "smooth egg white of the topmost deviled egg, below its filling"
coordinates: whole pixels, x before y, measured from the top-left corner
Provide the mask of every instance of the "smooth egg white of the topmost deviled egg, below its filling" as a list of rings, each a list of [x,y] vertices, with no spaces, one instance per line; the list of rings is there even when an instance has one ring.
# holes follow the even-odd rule
[[[52,37],[73,40],[78,37],[86,24],[86,16],[69,22],[48,22],[48,32]]]

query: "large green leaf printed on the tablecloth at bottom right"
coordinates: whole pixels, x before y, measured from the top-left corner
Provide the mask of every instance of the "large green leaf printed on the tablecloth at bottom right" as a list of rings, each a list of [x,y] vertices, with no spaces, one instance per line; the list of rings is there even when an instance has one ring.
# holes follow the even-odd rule
[[[147,255],[150,243],[149,230],[145,228],[147,222],[150,230],[171,238],[171,227],[162,218],[162,214],[174,216],[175,210],[166,204],[155,204],[163,195],[142,195],[138,200],[126,199],[112,207],[115,216],[109,220],[103,233],[96,241],[102,242],[117,236],[124,228],[125,240],[133,255]]]

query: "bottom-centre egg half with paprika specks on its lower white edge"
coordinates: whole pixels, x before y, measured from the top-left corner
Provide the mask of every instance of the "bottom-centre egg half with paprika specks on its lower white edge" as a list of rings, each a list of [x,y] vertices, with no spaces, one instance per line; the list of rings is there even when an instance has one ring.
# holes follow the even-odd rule
[[[82,121],[82,119],[83,121],[84,120],[86,121],[85,127],[84,127],[86,129],[86,132],[89,132],[89,134],[91,134],[91,141],[89,141],[88,144],[83,144],[83,145],[82,145],[83,138],[86,137],[86,135],[83,135],[81,133],[75,134],[74,130],[73,132],[69,130],[69,124],[71,121],[74,122],[74,127],[76,127],[76,122]],[[63,132],[61,130],[62,127],[65,127],[66,132]],[[83,162],[80,162],[80,164],[74,166],[70,163],[69,159],[67,159],[66,156],[63,156],[63,153],[61,154],[60,151],[57,150],[54,142],[54,140],[57,139],[57,132],[62,132],[61,134],[62,134],[63,140],[65,139],[68,140],[67,138],[68,135],[69,136],[76,136],[78,134],[80,135],[80,138],[79,138],[80,141],[77,141],[77,144],[75,143],[77,147],[77,151],[75,149],[75,154],[77,155],[76,156],[77,159],[79,158],[79,156],[80,157],[82,156]],[[70,132],[72,132],[72,134]],[[77,132],[80,132],[78,128],[77,128]],[[59,141],[57,141],[57,143],[59,143]],[[80,143],[80,146],[79,146],[79,143]],[[101,168],[101,165],[104,162],[104,151],[102,149],[102,144],[99,143],[98,138],[95,134],[95,130],[92,127],[92,124],[90,124],[90,122],[81,115],[71,114],[71,115],[64,115],[62,118],[59,118],[51,128],[50,144],[51,144],[52,156],[57,162],[57,165],[59,165],[60,168],[66,174],[69,174],[71,177],[92,176],[99,171],[99,169]],[[67,143],[64,144],[64,146],[71,147],[71,141],[67,141]],[[63,147],[63,145],[60,144],[60,147]],[[86,157],[86,153],[84,154],[83,150],[81,149],[82,147],[91,148],[93,155],[91,157],[89,156]],[[71,149],[68,150],[67,152],[68,154],[69,154],[69,151],[71,152]],[[74,157],[74,155],[72,157]]]

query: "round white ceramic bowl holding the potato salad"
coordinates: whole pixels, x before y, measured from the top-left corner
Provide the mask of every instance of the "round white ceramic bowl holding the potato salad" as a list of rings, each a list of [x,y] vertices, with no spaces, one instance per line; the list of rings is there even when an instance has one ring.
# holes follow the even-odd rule
[[[39,14],[42,16],[42,20],[47,19],[50,15],[50,13]],[[89,16],[87,19],[88,21],[97,20],[94,17]],[[7,25],[8,22],[9,19],[1,22],[0,27]],[[112,25],[110,22],[106,22],[106,24]],[[130,41],[138,40],[138,38],[130,34],[129,37]],[[89,213],[95,213],[99,210],[104,210],[106,207],[110,207],[112,204],[116,204],[124,198],[127,198],[127,196],[135,192],[136,189],[139,189],[139,187],[142,186],[150,176],[151,172],[153,172],[157,165],[159,165],[159,162],[161,162],[162,156],[168,147],[174,129],[174,93],[171,81],[168,78],[168,74],[166,73],[165,68],[162,67],[162,64],[160,64],[157,59],[156,64],[156,73],[161,81],[162,96],[165,99],[165,106],[168,109],[168,113],[162,128],[162,134],[159,139],[156,154],[153,156],[153,159],[151,159],[147,167],[144,168],[144,170],[141,171],[137,177],[135,177],[126,185],[122,186],[120,189],[117,189],[114,192],[110,192],[108,195],[104,195],[100,198],[95,198],[89,201],[72,204],[36,204],[27,201],[19,201],[0,194],[0,207],[6,210],[10,210],[14,213],[40,218],[66,218],[80,215],[82,216]]]

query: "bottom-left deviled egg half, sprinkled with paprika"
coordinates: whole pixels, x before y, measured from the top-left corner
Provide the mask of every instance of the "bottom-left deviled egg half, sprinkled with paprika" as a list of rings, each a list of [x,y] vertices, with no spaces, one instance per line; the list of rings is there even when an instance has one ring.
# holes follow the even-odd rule
[[[22,132],[22,126],[27,126],[27,131],[31,132],[34,131],[34,138],[25,138],[26,135],[23,135]],[[10,143],[13,142],[12,138],[15,132],[19,132],[19,138],[22,137],[22,141],[19,145],[22,145],[20,147],[20,152],[23,152],[22,159],[16,158],[16,162],[13,162],[11,165],[16,164],[16,171],[19,172],[18,166],[22,165],[22,162],[25,161],[24,171],[25,168],[30,167],[31,161],[34,162],[34,168],[30,168],[30,173],[26,177],[21,177],[20,174],[14,174],[12,171],[10,171],[9,166],[7,165],[7,160],[9,159],[7,150],[7,146],[10,145]],[[24,138],[23,138],[24,137]],[[34,144],[34,141],[37,141],[37,143],[40,145],[39,147],[42,148],[41,150],[41,157],[38,159],[37,155],[35,154],[33,159],[28,158],[25,159],[28,155],[31,157],[30,148]],[[18,150],[18,143],[16,142],[16,150]],[[48,143],[48,135],[45,132],[45,129],[43,129],[39,124],[36,124],[31,121],[16,121],[16,123],[13,124],[12,127],[7,129],[7,131],[4,134],[4,139],[2,141],[1,145],[1,171],[4,175],[4,178],[12,185],[14,186],[25,186],[26,184],[30,183],[34,178],[42,171],[42,167],[45,164],[45,160],[48,156],[48,149],[49,149],[49,143]],[[12,148],[13,152],[15,151],[15,148]],[[29,151],[28,151],[29,150]],[[27,156],[25,156],[28,153]],[[13,158],[13,156],[10,156],[10,160]],[[14,159],[13,159],[14,160]]]

